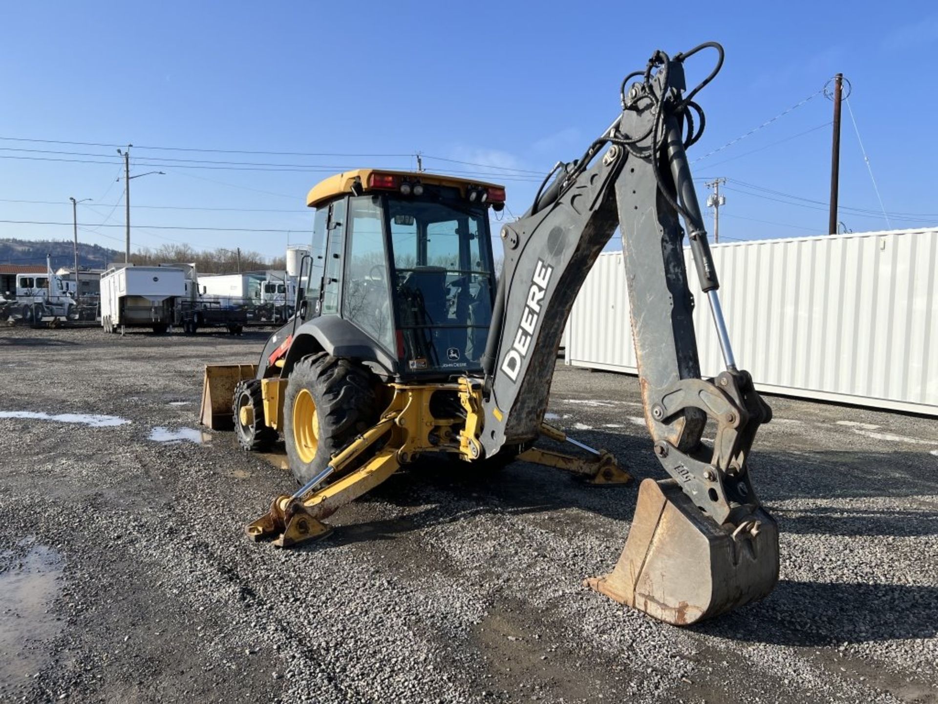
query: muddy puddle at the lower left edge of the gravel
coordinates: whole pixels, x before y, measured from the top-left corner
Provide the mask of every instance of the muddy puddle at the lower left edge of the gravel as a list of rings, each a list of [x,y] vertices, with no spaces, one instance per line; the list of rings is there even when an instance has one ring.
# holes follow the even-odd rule
[[[18,544],[33,546],[24,557],[12,550],[0,555],[0,685],[22,683],[46,666],[53,655],[50,642],[64,624],[51,609],[65,559],[34,541]]]

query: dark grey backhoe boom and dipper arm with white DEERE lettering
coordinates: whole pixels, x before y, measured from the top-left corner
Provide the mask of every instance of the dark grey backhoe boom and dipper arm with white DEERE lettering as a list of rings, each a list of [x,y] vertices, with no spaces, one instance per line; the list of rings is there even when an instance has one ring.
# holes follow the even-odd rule
[[[685,96],[684,60],[705,47],[719,51],[719,63]],[[485,420],[479,438],[492,455],[537,437],[567,315],[618,225],[644,416],[655,452],[684,493],[718,524],[741,521],[759,506],[746,458],[758,425],[770,418],[749,374],[735,366],[685,151],[703,131],[703,112],[692,99],[719,71],[722,55],[713,43],[674,58],[654,54],[644,71],[623,82],[623,111],[609,130],[581,160],[558,164],[550,187],[542,187],[520,220],[503,226],[505,263],[483,358]],[[641,80],[627,95],[633,77]],[[700,378],[680,218],[726,365],[712,381]],[[708,419],[717,424],[712,450],[701,443]]]

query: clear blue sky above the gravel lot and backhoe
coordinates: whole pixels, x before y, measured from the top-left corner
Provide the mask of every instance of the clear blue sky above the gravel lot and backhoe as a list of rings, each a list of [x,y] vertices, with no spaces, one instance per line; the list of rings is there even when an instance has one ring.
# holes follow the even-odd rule
[[[135,145],[131,173],[166,172],[131,182],[135,247],[174,240],[280,254],[288,237],[308,240],[304,197],[317,180],[355,166],[413,167],[417,150],[428,170],[504,174],[490,179],[507,185],[520,215],[535,174],[579,156],[613,120],[628,71],[655,49],[711,39],[726,64],[698,97],[707,130],[690,159],[700,160],[694,176],[731,179],[722,237],[825,232],[832,104],[823,95],[707,155],[838,71],[853,84],[850,106],[892,226],[938,224],[938,9],[837,5],[8,3],[0,157],[18,158],[0,159],[0,220],[69,224],[0,222],[0,237],[71,237],[73,195],[94,199],[80,207],[80,238],[123,247],[113,146],[9,138]],[[699,58],[690,79],[707,69],[710,57]],[[843,210],[840,220],[856,232],[886,229],[846,105],[841,144],[840,204],[872,212]]]

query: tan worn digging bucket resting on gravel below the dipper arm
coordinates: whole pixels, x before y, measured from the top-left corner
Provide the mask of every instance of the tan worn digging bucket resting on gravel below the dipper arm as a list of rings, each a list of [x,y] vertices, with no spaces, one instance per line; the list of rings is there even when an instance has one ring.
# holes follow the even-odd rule
[[[673,625],[762,599],[779,581],[779,528],[758,508],[719,527],[674,480],[646,479],[612,573],[585,584]]]

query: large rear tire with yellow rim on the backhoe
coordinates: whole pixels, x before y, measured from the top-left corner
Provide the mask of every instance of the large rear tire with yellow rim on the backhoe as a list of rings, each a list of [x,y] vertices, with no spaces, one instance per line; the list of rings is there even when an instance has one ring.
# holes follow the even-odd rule
[[[283,439],[297,482],[309,482],[377,421],[373,385],[368,370],[325,352],[296,363],[283,402]]]

